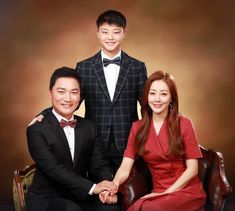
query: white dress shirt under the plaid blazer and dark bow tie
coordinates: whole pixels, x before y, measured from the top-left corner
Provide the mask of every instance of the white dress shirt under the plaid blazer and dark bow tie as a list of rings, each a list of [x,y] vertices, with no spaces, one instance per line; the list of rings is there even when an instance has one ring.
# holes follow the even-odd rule
[[[121,58],[121,51],[119,51],[119,53],[113,58],[110,58],[103,52],[103,50],[101,50],[102,61],[103,61],[103,58],[115,59],[116,57]],[[109,91],[109,96],[110,96],[111,101],[113,101],[113,97],[114,97],[114,93],[115,93],[115,89],[117,85],[117,80],[119,76],[120,66],[116,64],[109,64],[108,66],[105,67],[103,65],[103,69],[104,69],[104,76],[105,76],[106,84],[107,84],[108,91]]]

